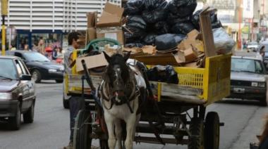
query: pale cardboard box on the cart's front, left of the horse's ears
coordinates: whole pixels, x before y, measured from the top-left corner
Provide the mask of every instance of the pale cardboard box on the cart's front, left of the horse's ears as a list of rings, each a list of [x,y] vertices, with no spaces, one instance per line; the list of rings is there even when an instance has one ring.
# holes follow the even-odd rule
[[[87,57],[83,57],[83,58],[77,58],[76,59],[76,71],[77,72],[84,70],[83,65],[81,63],[81,60],[85,60],[85,63],[87,65],[87,69],[108,65],[108,62],[104,57],[104,53],[101,53],[101,54],[96,55],[96,56],[87,56]]]

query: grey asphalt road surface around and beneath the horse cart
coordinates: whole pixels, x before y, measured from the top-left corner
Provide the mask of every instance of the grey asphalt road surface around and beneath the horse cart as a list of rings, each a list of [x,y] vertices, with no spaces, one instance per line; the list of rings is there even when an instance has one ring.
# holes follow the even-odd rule
[[[0,123],[0,149],[59,149],[67,145],[69,138],[69,111],[63,109],[62,84],[43,82],[37,84],[37,101],[35,106],[35,121],[23,124],[19,131],[6,129],[5,123]],[[255,135],[260,134],[263,116],[268,108],[260,107],[255,102],[224,101],[209,105],[208,111],[219,113],[221,122],[220,148],[246,149],[252,141],[257,141]],[[98,145],[97,141],[94,141]],[[135,145],[139,149],[178,149],[186,145],[152,145],[141,143]]]

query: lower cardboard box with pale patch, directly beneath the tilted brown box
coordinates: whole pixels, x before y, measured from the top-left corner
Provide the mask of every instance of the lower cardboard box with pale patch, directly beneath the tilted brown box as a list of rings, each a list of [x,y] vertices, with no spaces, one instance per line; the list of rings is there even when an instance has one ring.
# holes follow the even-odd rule
[[[97,28],[97,38],[109,38],[124,44],[124,34],[121,27]]]

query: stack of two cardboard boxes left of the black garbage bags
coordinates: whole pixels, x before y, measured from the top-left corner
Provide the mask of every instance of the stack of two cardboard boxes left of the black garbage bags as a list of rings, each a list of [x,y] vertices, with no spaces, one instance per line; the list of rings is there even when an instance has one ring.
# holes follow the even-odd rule
[[[123,36],[123,8],[106,3],[102,15],[97,22],[97,38],[115,39],[124,44]]]

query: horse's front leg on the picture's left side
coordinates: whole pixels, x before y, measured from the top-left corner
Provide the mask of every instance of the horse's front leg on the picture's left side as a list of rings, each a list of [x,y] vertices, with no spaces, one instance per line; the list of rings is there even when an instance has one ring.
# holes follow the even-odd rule
[[[116,137],[114,136],[114,119],[112,115],[109,114],[109,112],[104,112],[104,119],[106,122],[107,130],[108,130],[108,145],[109,149],[114,149],[116,148]]]

